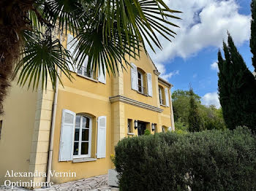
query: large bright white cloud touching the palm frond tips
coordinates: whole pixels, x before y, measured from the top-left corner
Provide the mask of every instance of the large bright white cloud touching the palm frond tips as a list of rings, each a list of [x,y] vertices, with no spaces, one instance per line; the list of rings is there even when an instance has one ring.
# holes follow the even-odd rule
[[[165,0],[165,3],[184,13],[175,14],[182,20],[170,20],[180,26],[172,28],[178,34],[172,43],[158,34],[163,50],[156,48],[154,53],[148,47],[154,62],[165,63],[176,56],[189,58],[203,48],[222,47],[227,31],[236,44],[249,40],[251,16],[238,12],[236,0]]]

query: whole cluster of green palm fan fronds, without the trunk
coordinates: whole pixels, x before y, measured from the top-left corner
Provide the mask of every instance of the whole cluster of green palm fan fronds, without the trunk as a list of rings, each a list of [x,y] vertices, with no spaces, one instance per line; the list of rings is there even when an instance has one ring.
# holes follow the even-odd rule
[[[127,69],[126,55],[140,58],[146,43],[162,49],[157,34],[170,41],[176,35],[171,28],[178,26],[169,19],[179,19],[162,0],[36,0],[32,7],[31,30],[23,33],[22,60],[13,77],[20,71],[18,83],[29,82],[33,89],[40,80],[46,87],[48,77],[54,87],[57,67],[71,80],[68,65],[79,67],[87,58],[94,71],[106,67],[116,74],[119,64]],[[78,41],[74,55],[58,39],[68,32]]]

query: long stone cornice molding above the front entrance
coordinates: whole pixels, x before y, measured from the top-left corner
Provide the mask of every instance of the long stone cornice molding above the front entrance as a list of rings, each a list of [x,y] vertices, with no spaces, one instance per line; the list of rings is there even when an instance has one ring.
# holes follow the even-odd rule
[[[163,109],[160,109],[156,106],[151,106],[151,105],[148,105],[148,104],[144,104],[140,101],[136,101],[134,99],[131,99],[131,98],[127,98],[125,96],[122,96],[122,95],[116,95],[116,96],[113,96],[113,97],[110,97],[109,98],[110,100],[110,103],[115,103],[117,101],[120,101],[120,102],[123,102],[125,104],[130,104],[132,106],[138,106],[138,107],[141,107],[143,109],[148,109],[148,110],[151,110],[153,112],[159,112],[159,113],[162,113],[164,110]]]

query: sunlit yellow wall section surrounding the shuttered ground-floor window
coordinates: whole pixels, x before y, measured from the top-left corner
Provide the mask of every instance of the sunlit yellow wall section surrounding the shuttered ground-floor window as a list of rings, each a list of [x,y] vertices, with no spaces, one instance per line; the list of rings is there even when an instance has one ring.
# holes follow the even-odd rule
[[[110,77],[107,76],[106,85],[94,82],[90,79],[77,76],[69,82],[66,77],[61,77],[64,87],[59,87],[59,96],[56,112],[56,128],[54,133],[53,164],[52,171],[76,173],[76,177],[59,178],[53,177],[51,181],[55,183],[67,182],[75,179],[83,179],[99,174],[108,174],[111,168],[111,106],[109,97],[111,94]],[[69,109],[76,114],[88,114],[92,122],[92,143],[91,157],[95,157],[97,150],[97,117],[107,116],[107,138],[106,138],[106,157],[96,161],[72,163],[59,162],[59,141],[61,132],[62,109]]]

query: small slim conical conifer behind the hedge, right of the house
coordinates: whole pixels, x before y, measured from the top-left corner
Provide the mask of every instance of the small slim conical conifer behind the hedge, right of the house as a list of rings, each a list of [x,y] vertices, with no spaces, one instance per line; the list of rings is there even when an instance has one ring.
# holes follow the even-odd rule
[[[189,101],[189,131],[190,132],[197,132],[203,130],[203,122],[200,117],[199,111],[198,111],[198,106],[195,101],[195,93],[192,90],[192,87],[190,87],[189,90],[189,96],[190,96],[190,101]]]

